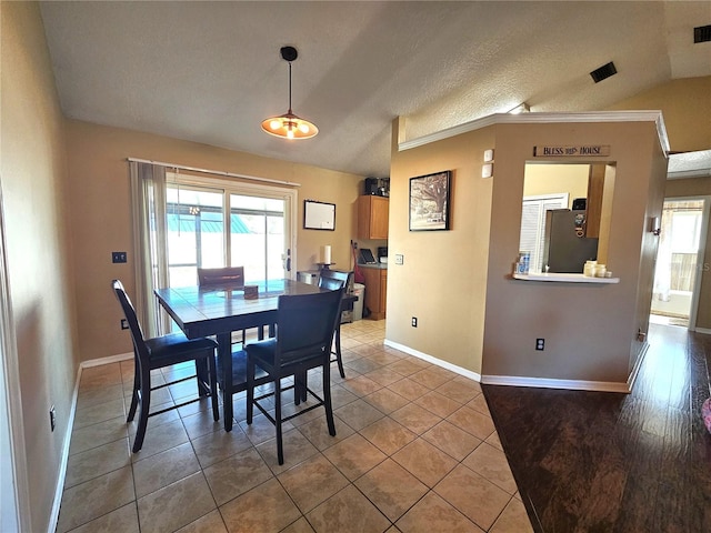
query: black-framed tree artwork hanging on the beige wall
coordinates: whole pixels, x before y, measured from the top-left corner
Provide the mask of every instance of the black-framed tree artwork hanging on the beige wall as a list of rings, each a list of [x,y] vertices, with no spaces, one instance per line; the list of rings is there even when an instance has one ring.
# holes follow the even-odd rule
[[[451,170],[410,178],[410,231],[449,230]]]

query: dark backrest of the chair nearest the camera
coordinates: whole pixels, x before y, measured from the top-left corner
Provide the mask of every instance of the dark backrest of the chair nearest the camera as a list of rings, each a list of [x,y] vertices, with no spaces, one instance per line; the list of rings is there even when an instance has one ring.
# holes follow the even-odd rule
[[[331,353],[343,289],[279,296],[277,365]]]

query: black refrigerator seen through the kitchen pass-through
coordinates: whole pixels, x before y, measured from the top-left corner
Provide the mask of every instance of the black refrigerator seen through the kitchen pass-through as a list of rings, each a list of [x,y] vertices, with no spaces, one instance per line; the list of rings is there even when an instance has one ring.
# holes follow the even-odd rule
[[[598,239],[584,237],[584,211],[545,212],[543,272],[548,265],[549,272],[582,274],[585,261],[598,258]]]

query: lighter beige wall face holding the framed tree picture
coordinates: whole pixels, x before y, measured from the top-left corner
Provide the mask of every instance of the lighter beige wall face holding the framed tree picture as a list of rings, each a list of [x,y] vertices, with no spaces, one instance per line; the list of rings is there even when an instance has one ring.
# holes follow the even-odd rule
[[[403,152],[395,148],[390,169],[387,338],[477,373],[493,184],[481,179],[481,161],[490,148],[493,131],[473,131]],[[451,230],[409,231],[409,179],[443,170],[452,171]],[[395,254],[404,255],[402,265],[394,264]]]

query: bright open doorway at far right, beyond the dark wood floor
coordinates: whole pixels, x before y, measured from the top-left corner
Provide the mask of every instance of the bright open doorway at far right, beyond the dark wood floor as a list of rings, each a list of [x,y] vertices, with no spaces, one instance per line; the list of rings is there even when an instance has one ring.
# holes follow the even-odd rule
[[[664,200],[650,322],[694,330],[708,210],[703,197]]]

